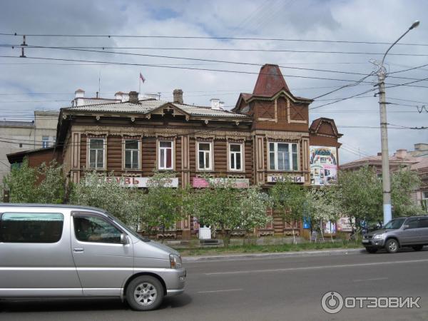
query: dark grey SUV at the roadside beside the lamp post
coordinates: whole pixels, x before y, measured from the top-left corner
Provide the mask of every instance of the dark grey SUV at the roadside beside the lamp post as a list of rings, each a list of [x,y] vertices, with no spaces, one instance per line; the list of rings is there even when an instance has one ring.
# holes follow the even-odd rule
[[[362,245],[369,253],[376,253],[380,248],[396,253],[404,247],[420,251],[428,245],[428,216],[394,218],[383,228],[365,234]]]

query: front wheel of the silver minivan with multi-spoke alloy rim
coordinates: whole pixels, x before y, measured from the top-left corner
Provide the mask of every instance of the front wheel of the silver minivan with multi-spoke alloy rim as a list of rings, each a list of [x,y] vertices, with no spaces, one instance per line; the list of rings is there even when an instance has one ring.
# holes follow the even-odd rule
[[[126,301],[133,310],[154,310],[161,305],[163,296],[161,282],[150,275],[136,277],[126,288]]]

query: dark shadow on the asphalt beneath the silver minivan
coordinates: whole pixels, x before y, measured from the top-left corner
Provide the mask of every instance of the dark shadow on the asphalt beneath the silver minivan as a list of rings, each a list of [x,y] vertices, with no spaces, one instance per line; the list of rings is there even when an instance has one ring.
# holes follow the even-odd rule
[[[165,297],[158,310],[183,307],[192,302],[189,295]],[[28,299],[28,300],[1,300],[0,312],[68,312],[68,311],[112,311],[131,310],[126,302],[118,299],[91,298],[91,299]]]

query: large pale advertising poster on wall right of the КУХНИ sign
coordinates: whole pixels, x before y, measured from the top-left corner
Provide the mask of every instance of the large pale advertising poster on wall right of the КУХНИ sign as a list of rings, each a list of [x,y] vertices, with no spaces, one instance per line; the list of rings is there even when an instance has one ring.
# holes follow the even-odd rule
[[[326,146],[310,146],[311,185],[329,185],[336,179],[336,148]]]

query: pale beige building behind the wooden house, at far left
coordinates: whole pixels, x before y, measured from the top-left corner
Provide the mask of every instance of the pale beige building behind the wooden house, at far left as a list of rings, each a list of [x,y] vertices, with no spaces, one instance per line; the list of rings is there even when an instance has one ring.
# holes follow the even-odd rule
[[[0,180],[11,165],[10,153],[49,148],[56,142],[59,111],[34,111],[34,121],[0,121]]]

